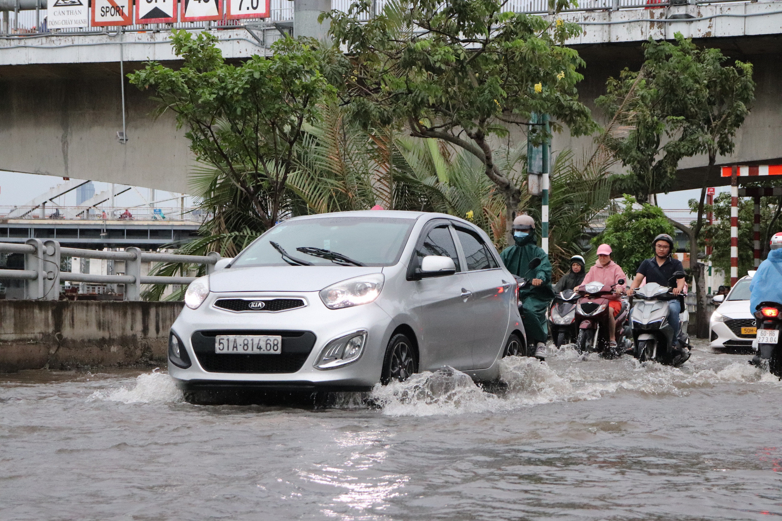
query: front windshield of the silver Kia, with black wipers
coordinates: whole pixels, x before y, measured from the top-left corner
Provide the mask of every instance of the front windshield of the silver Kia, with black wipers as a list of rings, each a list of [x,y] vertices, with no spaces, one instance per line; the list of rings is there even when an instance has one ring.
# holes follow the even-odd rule
[[[285,221],[250,244],[231,266],[289,266],[299,261],[314,266],[393,266],[414,223],[415,219],[382,217]]]

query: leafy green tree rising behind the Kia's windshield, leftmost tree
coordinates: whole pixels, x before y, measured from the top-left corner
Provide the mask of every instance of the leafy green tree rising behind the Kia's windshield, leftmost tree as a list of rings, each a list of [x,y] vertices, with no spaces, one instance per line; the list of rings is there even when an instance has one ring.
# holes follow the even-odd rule
[[[174,30],[171,42],[184,59],[181,69],[148,62],[128,74],[131,84],[152,89],[158,112],[177,115],[196,159],[238,188],[234,196],[261,230],[274,226],[290,210],[287,183],[303,125],[316,122],[319,105],[335,95],[319,70],[319,53],[306,41],[283,38],[271,56],[234,66],[208,33],[194,38]]]

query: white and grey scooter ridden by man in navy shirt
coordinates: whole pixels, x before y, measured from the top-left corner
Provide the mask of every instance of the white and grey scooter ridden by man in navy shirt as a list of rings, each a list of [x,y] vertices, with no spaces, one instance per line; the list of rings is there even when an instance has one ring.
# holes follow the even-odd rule
[[[673,273],[669,284],[676,284],[676,279],[684,278],[684,273]],[[673,285],[672,284],[672,285]],[[676,296],[672,293],[673,287],[665,287],[651,282],[638,288],[633,293],[637,302],[630,310],[630,329],[633,335],[633,355],[645,362],[654,360],[669,366],[680,366],[690,358],[690,337],[687,336],[687,306],[684,305],[683,295]],[[680,331],[678,341],[682,348],[676,352],[673,342],[673,327],[668,322],[669,302],[679,299],[682,312],[680,313]]]

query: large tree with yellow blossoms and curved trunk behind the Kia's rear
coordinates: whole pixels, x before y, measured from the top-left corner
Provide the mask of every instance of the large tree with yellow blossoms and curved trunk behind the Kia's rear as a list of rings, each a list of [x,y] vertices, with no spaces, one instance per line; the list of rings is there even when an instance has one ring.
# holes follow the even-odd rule
[[[558,0],[556,8],[569,5]],[[330,62],[344,82],[341,95],[364,127],[404,123],[414,137],[447,141],[472,154],[506,205],[506,239],[522,191],[497,165],[500,139],[526,125],[532,112],[551,114],[552,127],[571,134],[594,129],[578,101],[576,72],[584,62],[565,47],[583,30],[540,16],[502,12],[500,0],[397,0],[362,22],[371,0],[347,13],[332,11]],[[542,138],[537,133],[536,139]],[[500,139],[498,139],[500,138]]]

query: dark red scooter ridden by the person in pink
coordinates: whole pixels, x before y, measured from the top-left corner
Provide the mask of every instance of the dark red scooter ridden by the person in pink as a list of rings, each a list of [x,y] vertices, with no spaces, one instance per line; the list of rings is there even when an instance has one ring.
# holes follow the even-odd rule
[[[610,348],[608,341],[608,313],[611,313],[612,310],[608,306],[607,297],[614,293],[614,288],[619,284],[625,284],[625,280],[619,279],[616,284],[611,286],[597,281],[579,286],[580,298],[576,305],[576,323],[579,324],[576,349],[579,352],[599,352],[604,358],[613,359],[622,355],[629,347],[624,328],[629,306],[624,299],[622,299],[622,309],[616,316],[616,347]]]

